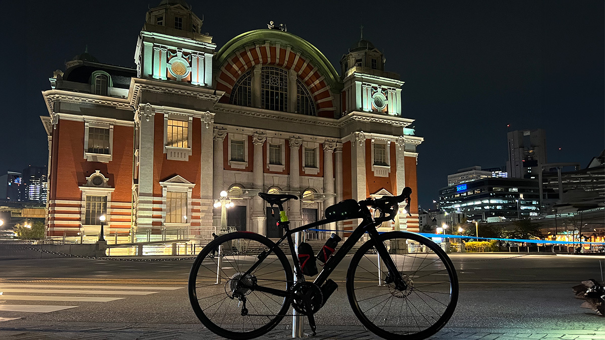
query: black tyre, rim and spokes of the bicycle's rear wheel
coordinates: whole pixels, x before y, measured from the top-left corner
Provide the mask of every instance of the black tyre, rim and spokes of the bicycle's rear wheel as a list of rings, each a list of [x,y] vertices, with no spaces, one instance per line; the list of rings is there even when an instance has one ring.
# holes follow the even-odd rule
[[[200,278],[200,280],[198,280],[198,276],[200,275],[200,267],[204,267],[204,271],[206,270],[206,268],[208,268],[205,265],[203,265],[203,261],[209,257],[209,255],[213,249],[217,249],[217,247],[221,244],[232,244],[232,243],[228,243],[228,242],[232,242],[237,239],[256,241],[256,242],[266,246],[266,249],[270,249],[271,247],[273,247],[275,245],[275,243],[273,243],[273,241],[269,240],[269,238],[266,238],[263,235],[255,234],[252,232],[232,232],[230,234],[221,235],[220,237],[215,238],[207,246],[205,246],[200,251],[200,253],[197,255],[197,257],[195,258],[195,261],[191,267],[191,272],[189,272],[188,292],[189,292],[189,302],[191,303],[191,306],[195,312],[195,315],[197,316],[198,319],[200,319],[201,323],[204,326],[206,326],[206,328],[208,328],[212,333],[222,336],[223,338],[229,338],[229,339],[234,339],[234,340],[244,340],[244,339],[257,338],[258,336],[264,335],[267,332],[269,332],[270,330],[272,330],[284,318],[284,316],[286,315],[287,311],[290,308],[290,304],[292,303],[292,300],[289,296],[286,296],[285,298],[283,298],[283,302],[281,304],[279,312],[276,313],[275,316],[273,316],[271,318],[267,315],[264,315],[264,316],[267,316],[270,318],[270,320],[266,324],[262,325],[261,327],[258,327],[257,329],[253,329],[253,330],[246,331],[246,332],[235,332],[233,330],[224,329],[222,322],[221,322],[221,324],[217,324],[216,322],[212,321],[211,318],[209,318],[209,316],[206,315],[206,313],[204,313],[203,307],[200,306],[200,300],[204,299],[204,297],[198,299],[198,290],[204,290],[201,288],[206,288],[205,290],[208,291],[209,288],[212,287],[212,284],[208,283],[208,284],[206,284],[206,286],[198,287],[198,281],[200,281],[200,283],[201,283],[201,281],[211,281],[208,279],[201,279],[201,278]],[[275,263],[275,261],[277,261],[277,260],[279,260],[278,263],[281,263],[281,267],[283,267],[283,270],[284,270],[283,275],[286,278],[286,280],[285,280],[286,289],[285,290],[289,290],[293,283],[293,273],[292,273],[292,267],[290,266],[290,262],[288,261],[284,252],[279,247],[275,247],[273,252],[275,253],[275,256],[277,257],[277,259],[273,260],[272,263]],[[220,256],[223,256],[223,255],[219,255],[219,257]],[[239,255],[237,255],[237,256],[238,256],[238,258],[240,258]],[[254,256],[254,258],[257,258],[255,255],[253,255],[253,256]],[[213,258],[214,258],[214,255],[213,255]],[[234,259],[233,261],[235,261],[235,255],[233,255],[233,259]],[[268,257],[265,260],[267,260],[267,259],[268,259]],[[228,267],[228,268],[235,270],[235,264],[232,264],[231,262],[229,262],[229,265],[232,265],[234,267]],[[266,266],[269,266],[269,264],[267,264]],[[279,267],[280,265],[276,264],[276,266]],[[257,268],[257,270],[260,269],[261,267],[263,267],[262,264],[261,264],[261,266],[259,266],[259,268]],[[241,271],[245,272],[245,270],[243,270],[243,269],[241,269]],[[221,269],[221,272],[223,272],[223,269]],[[279,268],[278,268],[277,272],[278,273],[280,272]],[[222,275],[222,274],[220,274],[220,275]],[[207,276],[203,276],[203,277],[207,277]],[[228,277],[229,277],[228,275],[225,277],[226,280],[229,280]],[[278,280],[273,280],[273,281],[278,281]],[[228,284],[228,281],[225,283],[225,295],[227,296],[227,298],[229,298],[229,295],[228,295],[229,293],[227,293],[227,290],[228,290],[227,284]],[[216,286],[217,287],[216,289],[218,289],[219,286],[221,286],[221,284],[218,284],[218,286]],[[253,292],[256,295],[256,292],[254,292],[253,290],[251,290],[251,292]],[[233,292],[231,292],[231,293],[233,293]],[[263,293],[263,292],[259,292],[259,293]],[[266,293],[263,293],[263,294],[266,295]],[[252,295],[250,295],[250,296],[252,296]],[[257,298],[258,298],[258,296],[257,296]],[[227,300],[224,297],[223,297],[223,299],[224,299],[224,301],[227,301],[227,303],[229,303],[229,300]],[[232,301],[237,301],[237,299],[233,299],[233,298],[230,298],[230,299]],[[273,299],[273,301],[275,301],[275,299]],[[275,302],[279,302],[279,299],[278,299],[278,301],[275,301]],[[263,302],[263,304],[264,304],[264,302]],[[223,303],[221,303],[221,305],[218,308],[220,309],[221,306],[223,306]],[[261,315],[261,316],[263,316],[263,315]],[[244,317],[244,316],[242,315],[242,317]]]

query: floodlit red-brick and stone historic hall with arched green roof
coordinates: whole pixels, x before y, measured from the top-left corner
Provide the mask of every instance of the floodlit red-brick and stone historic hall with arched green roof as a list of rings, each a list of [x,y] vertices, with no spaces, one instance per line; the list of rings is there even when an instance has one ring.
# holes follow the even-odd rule
[[[287,203],[294,226],[337,201],[405,186],[417,202],[423,139],[407,128],[404,82],[385,71],[379,48],[366,39],[343,45],[338,72],[285,25],[257,22],[265,28],[217,50],[202,24],[185,1],[163,0],[146,13],[134,67],[83,53],[54,72],[42,117],[48,235],[94,232],[102,214],[111,234],[208,232],[220,224],[221,191],[234,203],[228,226],[269,237],[282,230],[261,191],[302,198]],[[418,230],[411,209],[385,227]]]

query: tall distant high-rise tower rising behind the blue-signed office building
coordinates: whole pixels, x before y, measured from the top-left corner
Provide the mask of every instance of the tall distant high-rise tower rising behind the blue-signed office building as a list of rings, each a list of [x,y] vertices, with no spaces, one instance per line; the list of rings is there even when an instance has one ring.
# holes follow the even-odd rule
[[[546,163],[546,132],[543,129],[517,130],[508,139],[508,177],[537,178],[540,165]]]

